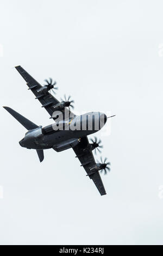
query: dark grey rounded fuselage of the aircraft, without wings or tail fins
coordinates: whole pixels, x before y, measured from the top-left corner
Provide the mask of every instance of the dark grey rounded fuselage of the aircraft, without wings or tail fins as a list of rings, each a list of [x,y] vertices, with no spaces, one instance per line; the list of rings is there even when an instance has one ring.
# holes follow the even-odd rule
[[[19,143],[21,147],[28,149],[55,149],[55,145],[64,148],[63,142],[65,142],[66,149],[68,143],[72,147],[73,143],[75,145],[80,141],[80,138],[99,131],[106,120],[106,115],[102,112],[75,115],[64,122],[58,121],[43,128],[40,126],[29,130]]]

